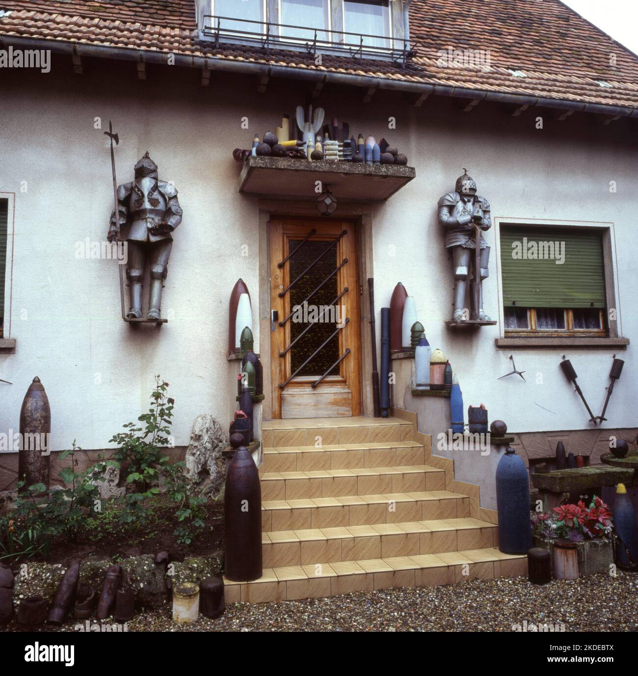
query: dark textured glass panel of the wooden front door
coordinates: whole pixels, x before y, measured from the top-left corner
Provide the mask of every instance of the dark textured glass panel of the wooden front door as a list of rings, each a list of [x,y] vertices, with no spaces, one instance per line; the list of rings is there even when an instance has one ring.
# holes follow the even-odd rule
[[[301,239],[289,240],[289,251],[294,251],[301,243]],[[330,241],[307,241],[297,254],[293,254],[289,260],[290,281],[308,268],[308,266],[326,250]],[[337,268],[337,247],[333,246],[328,253],[301,277],[301,279],[288,292],[290,295],[290,308],[293,312],[290,322],[291,342],[299,336],[312,320],[316,320],[325,310],[314,326],[299,339],[291,349],[291,373],[294,373],[305,360],[307,360],[328,337],[337,329],[337,322],[343,319],[339,316],[340,306],[330,306],[339,291],[337,290],[337,274],[333,275],[326,284],[314,293],[305,305],[303,300],[307,298],[324,279]],[[320,352],[306,364],[297,376],[320,376],[339,359],[339,334],[331,339]],[[339,366],[335,366],[328,375],[339,375]]]

